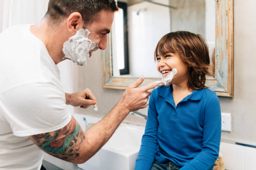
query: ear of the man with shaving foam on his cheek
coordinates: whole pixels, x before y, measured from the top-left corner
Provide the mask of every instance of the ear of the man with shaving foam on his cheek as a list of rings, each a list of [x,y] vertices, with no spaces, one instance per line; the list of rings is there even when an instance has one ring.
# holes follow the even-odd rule
[[[71,35],[75,35],[78,30],[83,28],[84,21],[82,15],[78,12],[74,12],[67,18],[67,30]]]

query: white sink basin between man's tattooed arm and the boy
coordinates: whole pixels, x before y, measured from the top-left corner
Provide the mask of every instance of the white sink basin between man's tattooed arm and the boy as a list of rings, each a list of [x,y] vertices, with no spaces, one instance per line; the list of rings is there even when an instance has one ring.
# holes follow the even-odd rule
[[[84,170],[134,170],[145,128],[122,123],[110,140],[86,163]]]

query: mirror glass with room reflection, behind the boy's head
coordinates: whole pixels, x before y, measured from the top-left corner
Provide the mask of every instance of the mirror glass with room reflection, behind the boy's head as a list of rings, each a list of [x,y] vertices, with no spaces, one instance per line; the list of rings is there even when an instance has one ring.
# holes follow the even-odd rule
[[[112,28],[112,76],[160,77],[154,50],[162,36],[185,30],[203,35],[214,62],[214,0],[118,0]]]

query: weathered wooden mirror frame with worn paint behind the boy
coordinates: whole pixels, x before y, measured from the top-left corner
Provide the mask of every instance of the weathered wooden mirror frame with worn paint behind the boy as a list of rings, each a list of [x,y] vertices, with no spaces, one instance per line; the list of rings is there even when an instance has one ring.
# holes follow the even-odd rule
[[[111,56],[110,32],[102,51],[102,87],[126,89],[138,77],[113,77]],[[207,77],[205,85],[218,96],[233,97],[233,70],[233,0],[215,0],[215,77]],[[142,85],[160,79],[145,77]]]

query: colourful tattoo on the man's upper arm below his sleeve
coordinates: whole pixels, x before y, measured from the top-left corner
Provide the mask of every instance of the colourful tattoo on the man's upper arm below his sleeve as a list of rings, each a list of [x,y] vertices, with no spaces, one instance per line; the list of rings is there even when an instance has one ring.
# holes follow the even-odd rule
[[[83,132],[74,119],[59,130],[31,136],[33,142],[47,153],[63,160],[73,160],[79,156],[79,147],[84,140]]]

